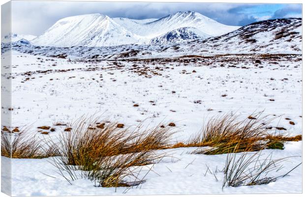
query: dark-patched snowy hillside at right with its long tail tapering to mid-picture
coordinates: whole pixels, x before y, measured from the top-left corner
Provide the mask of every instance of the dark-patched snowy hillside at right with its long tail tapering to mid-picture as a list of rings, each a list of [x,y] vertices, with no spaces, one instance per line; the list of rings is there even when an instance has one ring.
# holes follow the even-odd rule
[[[302,19],[261,21],[231,33],[207,39],[161,45],[155,48],[138,46],[134,50],[141,51],[141,55],[133,58],[217,54],[302,54]]]

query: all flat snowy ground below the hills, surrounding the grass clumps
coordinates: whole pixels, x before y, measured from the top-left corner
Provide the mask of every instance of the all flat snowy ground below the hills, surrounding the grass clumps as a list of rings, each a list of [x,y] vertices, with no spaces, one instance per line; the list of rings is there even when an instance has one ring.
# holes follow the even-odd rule
[[[258,59],[261,63],[255,63]],[[262,110],[263,115],[271,115],[270,118],[279,116],[271,126],[283,127],[287,131],[281,132],[290,135],[302,134],[302,61],[298,55],[274,55],[270,59],[229,55],[195,62],[190,58],[172,62],[160,59],[86,63],[13,51],[12,60],[12,126],[30,126],[32,133],[41,138],[56,138],[64,132],[65,127],[54,126],[55,123],[69,123],[81,115],[96,114],[126,127],[175,122],[178,132],[172,141],[185,141],[200,131],[205,118],[229,112],[246,118]],[[139,106],[134,107],[134,104]],[[56,131],[43,135],[37,133],[39,126],[50,126]],[[214,175],[204,176],[204,173],[206,164],[213,170],[216,166],[222,169],[226,155],[189,154],[193,149],[172,150],[179,161],[155,164],[153,171],[156,173],[149,173],[141,189],[132,188],[126,194],[301,192],[300,166],[291,176],[268,185],[222,191],[223,173],[216,173],[218,181]],[[293,142],[283,151],[275,150],[274,159],[301,156],[301,150],[302,143]],[[264,151],[265,154],[270,152]],[[194,159],[193,164],[185,168]],[[55,168],[49,160],[12,160],[12,194],[121,195],[126,189],[97,188],[85,179],[69,185],[53,171]],[[284,171],[300,163],[301,158],[289,161]],[[291,186],[289,182],[294,184]]]

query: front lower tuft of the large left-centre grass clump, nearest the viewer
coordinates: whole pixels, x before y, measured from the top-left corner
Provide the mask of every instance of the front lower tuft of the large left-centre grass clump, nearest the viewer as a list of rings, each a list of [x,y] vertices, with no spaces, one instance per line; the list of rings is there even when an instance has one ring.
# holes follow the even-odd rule
[[[55,157],[54,165],[69,183],[78,178],[87,178],[94,181],[97,187],[131,187],[145,182],[147,173],[140,175],[144,165],[153,164],[162,157],[164,156],[156,155],[154,151],[143,151],[94,158],[93,163],[84,165],[67,165],[62,163],[62,157]]]

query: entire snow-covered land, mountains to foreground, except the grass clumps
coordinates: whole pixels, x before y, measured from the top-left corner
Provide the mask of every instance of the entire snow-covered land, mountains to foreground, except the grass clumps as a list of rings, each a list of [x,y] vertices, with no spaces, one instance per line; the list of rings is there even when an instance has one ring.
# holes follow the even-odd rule
[[[202,20],[215,29],[195,29],[195,22]],[[183,21],[187,23],[181,25]],[[112,30],[116,39],[85,39],[88,33],[72,31],[75,24],[83,23],[94,27],[78,26],[80,31],[92,28],[104,35]],[[102,24],[101,30],[95,28],[97,24]],[[166,31],[164,24],[170,24]],[[149,28],[155,30],[152,35]],[[173,122],[173,143],[187,141],[209,118],[230,113],[244,120],[262,111],[262,116],[272,119],[270,132],[302,134],[302,20],[269,20],[238,28],[194,12],[146,21],[99,14],[62,19],[33,40],[12,43],[12,104],[2,106],[2,116],[11,113],[11,129],[27,128],[30,136],[47,140],[56,140],[66,132],[63,125],[84,115],[125,128]],[[62,36],[61,30],[69,35]],[[74,36],[75,40],[69,39]],[[8,57],[8,49],[8,43],[1,43],[2,59]],[[37,129],[42,126],[55,131]],[[139,177],[145,182],[128,188],[94,187],[94,182],[81,177],[70,184],[57,173],[52,157],[12,159],[12,195],[302,192],[302,165],[297,166],[302,162],[302,141],[287,142],[284,150],[261,152],[263,159],[289,158],[268,174],[278,177],[297,166],[287,176],[241,187],[222,187],[227,154],[193,154],[197,149],[158,150],[170,156],[143,166]],[[8,176],[5,173],[9,171],[2,178]]]

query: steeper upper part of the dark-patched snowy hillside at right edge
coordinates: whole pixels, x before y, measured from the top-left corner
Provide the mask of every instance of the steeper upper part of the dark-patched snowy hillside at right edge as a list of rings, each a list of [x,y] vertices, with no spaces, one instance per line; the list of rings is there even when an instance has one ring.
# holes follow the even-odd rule
[[[234,32],[190,42],[193,50],[215,53],[302,53],[302,19],[256,22]]]

